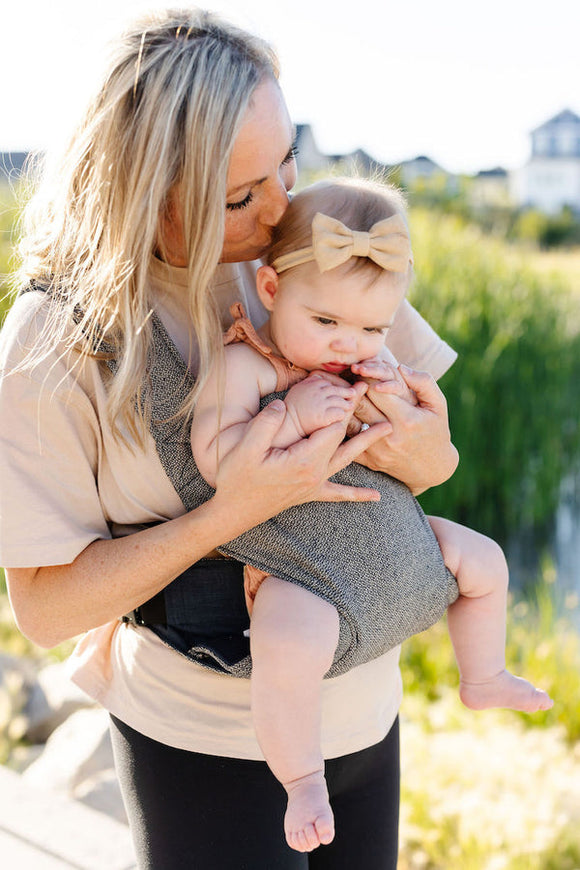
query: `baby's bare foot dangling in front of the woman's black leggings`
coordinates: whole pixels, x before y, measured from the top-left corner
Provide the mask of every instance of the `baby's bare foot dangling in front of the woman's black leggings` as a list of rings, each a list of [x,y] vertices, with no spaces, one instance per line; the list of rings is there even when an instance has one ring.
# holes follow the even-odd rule
[[[322,770],[285,783],[288,808],[284,818],[286,840],[297,852],[311,852],[334,839],[334,816]]]

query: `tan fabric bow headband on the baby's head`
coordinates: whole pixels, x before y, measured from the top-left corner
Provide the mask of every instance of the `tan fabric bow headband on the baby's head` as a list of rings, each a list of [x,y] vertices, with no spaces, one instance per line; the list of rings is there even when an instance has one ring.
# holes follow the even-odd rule
[[[316,261],[321,272],[368,257],[389,272],[406,272],[413,262],[407,225],[400,214],[378,221],[368,233],[349,230],[336,218],[318,212],[312,221],[312,246],[283,254],[272,263],[276,272]]]

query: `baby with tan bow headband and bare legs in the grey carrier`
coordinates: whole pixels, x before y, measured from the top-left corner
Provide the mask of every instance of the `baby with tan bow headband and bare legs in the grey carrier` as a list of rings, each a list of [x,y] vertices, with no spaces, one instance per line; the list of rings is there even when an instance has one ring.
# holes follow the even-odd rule
[[[268,265],[257,273],[258,295],[270,318],[256,333],[241,306],[235,307],[225,372],[216,370],[196,407],[192,447],[210,484],[220,459],[271,393],[287,390],[287,413],[274,445],[281,448],[352,417],[365,392],[380,408],[393,381],[400,394],[415,401],[385,347],[411,277],[404,201],[394,188],[333,180],[293,198],[276,229]],[[347,373],[358,378],[354,386],[341,377]],[[392,498],[397,510],[397,496]],[[348,522],[356,521],[356,513],[349,512]],[[463,703],[530,713],[550,708],[545,692],[505,667],[508,572],[501,549],[448,520],[428,521],[433,545],[459,587],[448,624]],[[336,528],[329,529],[326,544],[324,570],[330,576],[340,545]],[[404,563],[406,545],[398,540],[392,545],[396,560]],[[340,559],[336,554],[337,563]],[[384,574],[381,583],[388,587],[389,569]],[[364,575],[357,576],[357,586],[366,583]],[[326,600],[319,591],[252,566],[246,566],[246,598],[256,734],[288,795],[287,841],[298,851],[311,851],[334,837],[319,729],[321,680],[339,645],[339,615],[331,596]]]

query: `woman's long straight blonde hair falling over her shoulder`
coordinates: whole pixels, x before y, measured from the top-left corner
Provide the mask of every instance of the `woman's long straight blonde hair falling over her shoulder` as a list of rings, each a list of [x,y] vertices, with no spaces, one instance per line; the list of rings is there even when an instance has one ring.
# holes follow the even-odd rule
[[[19,280],[50,285],[51,304],[29,362],[63,341],[81,361],[98,356],[103,339],[111,344],[118,368],[108,413],[117,435],[119,423],[138,443],[146,431],[147,275],[177,185],[200,357],[184,412],[219,353],[210,284],[223,244],[227,168],[252,94],[267,77],[278,78],[273,50],[213,13],[168,10],[137,21],[119,40],[52,183],[47,178],[30,204]]]

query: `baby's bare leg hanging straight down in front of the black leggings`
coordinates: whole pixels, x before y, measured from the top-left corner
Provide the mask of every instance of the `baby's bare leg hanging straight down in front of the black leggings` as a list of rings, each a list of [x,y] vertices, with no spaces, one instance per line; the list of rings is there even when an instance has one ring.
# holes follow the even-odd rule
[[[288,844],[310,852],[334,837],[320,748],[321,683],[338,643],[338,613],[277,577],[256,594],[250,627],[252,715],[264,757],[288,794]]]

